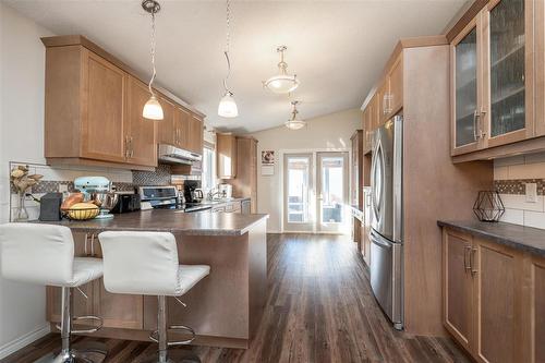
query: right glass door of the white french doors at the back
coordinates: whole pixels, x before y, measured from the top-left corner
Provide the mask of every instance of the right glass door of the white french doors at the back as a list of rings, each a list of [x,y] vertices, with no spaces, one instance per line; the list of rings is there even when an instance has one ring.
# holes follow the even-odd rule
[[[347,153],[318,153],[318,229],[343,232],[348,225]]]

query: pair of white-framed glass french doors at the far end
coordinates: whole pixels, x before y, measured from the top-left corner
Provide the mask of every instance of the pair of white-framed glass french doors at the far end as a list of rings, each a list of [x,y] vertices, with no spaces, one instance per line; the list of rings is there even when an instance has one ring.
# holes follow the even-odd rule
[[[348,233],[348,153],[283,155],[283,230]]]

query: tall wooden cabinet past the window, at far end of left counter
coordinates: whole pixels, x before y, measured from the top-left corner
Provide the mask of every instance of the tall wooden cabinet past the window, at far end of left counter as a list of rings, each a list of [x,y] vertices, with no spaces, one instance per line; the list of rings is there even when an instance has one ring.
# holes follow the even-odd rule
[[[251,213],[257,213],[257,140],[252,136],[237,136],[237,178],[229,183],[233,196],[251,199]],[[240,162],[244,160],[244,162]]]

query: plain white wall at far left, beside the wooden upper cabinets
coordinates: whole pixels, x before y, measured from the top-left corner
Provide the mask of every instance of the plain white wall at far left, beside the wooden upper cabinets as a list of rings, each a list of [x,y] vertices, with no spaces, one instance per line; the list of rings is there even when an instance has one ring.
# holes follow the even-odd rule
[[[0,2],[0,222],[9,220],[8,162],[44,164],[47,29]],[[48,331],[44,287],[0,278],[0,359]]]

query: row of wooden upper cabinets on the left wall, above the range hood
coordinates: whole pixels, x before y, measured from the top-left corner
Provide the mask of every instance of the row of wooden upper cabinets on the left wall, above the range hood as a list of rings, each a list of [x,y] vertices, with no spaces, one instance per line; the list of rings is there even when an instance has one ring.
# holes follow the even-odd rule
[[[203,117],[158,92],[165,119],[142,117],[145,83],[125,64],[82,36],[47,37],[45,157],[153,170],[157,143],[202,154]]]

